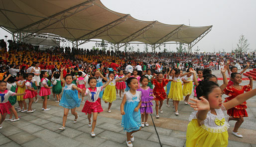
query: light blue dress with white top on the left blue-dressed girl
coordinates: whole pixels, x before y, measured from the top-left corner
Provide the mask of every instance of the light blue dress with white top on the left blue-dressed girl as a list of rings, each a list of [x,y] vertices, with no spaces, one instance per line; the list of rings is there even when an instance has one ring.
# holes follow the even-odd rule
[[[75,84],[67,85],[65,83],[63,95],[59,103],[60,106],[63,106],[64,108],[68,108],[68,109],[72,109],[80,106],[81,99],[78,98],[78,91],[72,90],[73,85]]]

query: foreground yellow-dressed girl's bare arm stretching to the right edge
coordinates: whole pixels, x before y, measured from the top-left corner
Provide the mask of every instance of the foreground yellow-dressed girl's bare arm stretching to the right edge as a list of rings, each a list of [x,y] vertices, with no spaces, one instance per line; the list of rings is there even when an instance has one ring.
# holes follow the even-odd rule
[[[246,92],[244,94],[238,95],[236,98],[233,98],[228,102],[223,103],[223,105],[225,106],[226,110],[228,110],[230,108],[233,108],[236,105],[243,103],[247,99],[254,97],[255,95],[256,95],[256,89],[250,92]]]

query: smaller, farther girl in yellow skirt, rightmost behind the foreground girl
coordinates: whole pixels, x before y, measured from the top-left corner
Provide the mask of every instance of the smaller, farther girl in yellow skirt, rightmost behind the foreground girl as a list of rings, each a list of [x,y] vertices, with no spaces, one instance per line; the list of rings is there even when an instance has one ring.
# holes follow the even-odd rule
[[[183,89],[182,89],[182,94],[183,94],[183,96],[185,96],[184,103],[189,105],[188,98],[191,95],[192,89],[193,89],[193,75],[191,72],[189,72],[189,68],[187,69],[187,72],[189,74],[182,78],[182,81],[184,83]]]

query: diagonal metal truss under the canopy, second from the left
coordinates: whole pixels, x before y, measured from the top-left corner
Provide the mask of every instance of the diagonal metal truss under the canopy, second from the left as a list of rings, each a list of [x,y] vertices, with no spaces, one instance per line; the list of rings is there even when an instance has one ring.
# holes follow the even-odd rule
[[[80,39],[82,39],[82,38],[84,38],[84,37],[86,37],[86,36],[88,36],[88,39],[79,41],[79,45],[78,45],[78,46],[89,42],[91,39],[93,39],[93,38],[99,36],[100,34],[102,34],[102,33],[106,32],[106,31],[108,31],[109,29],[111,29],[111,28],[113,28],[113,27],[115,27],[115,26],[117,26],[117,25],[119,25],[119,24],[125,22],[125,21],[126,21],[125,18],[128,17],[128,16],[129,16],[129,14],[127,14],[127,15],[125,15],[125,16],[123,16],[123,17],[121,17],[121,18],[119,18],[119,19],[117,19],[117,20],[115,20],[115,21],[113,21],[113,22],[111,22],[111,23],[108,23],[108,24],[106,24],[106,25],[104,25],[104,26],[102,26],[102,27],[100,27],[100,28],[98,28],[98,29],[96,29],[96,30],[93,30],[93,31],[90,32],[90,33],[87,33],[87,34],[85,34],[85,35],[79,37],[76,41],[78,41],[78,40],[80,40]]]

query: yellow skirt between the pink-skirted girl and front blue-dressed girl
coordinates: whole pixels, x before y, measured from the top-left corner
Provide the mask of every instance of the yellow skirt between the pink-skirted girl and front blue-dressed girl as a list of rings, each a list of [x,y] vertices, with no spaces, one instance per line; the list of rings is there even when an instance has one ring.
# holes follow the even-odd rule
[[[108,85],[104,90],[102,99],[110,103],[112,103],[112,101],[115,101],[117,99],[116,86]]]

